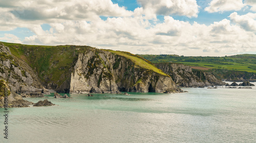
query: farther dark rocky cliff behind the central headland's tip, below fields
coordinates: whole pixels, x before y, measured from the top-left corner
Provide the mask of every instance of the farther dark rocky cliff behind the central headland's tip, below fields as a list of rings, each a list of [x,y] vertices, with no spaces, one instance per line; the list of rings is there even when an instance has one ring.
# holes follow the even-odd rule
[[[158,63],[157,68],[170,75],[180,87],[205,87],[210,85],[225,85],[213,74],[205,71],[192,71],[190,66],[174,63]]]

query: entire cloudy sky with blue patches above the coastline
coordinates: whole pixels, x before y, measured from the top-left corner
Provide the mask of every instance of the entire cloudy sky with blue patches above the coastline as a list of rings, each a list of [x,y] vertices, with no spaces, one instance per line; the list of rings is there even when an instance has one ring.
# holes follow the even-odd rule
[[[256,54],[256,0],[0,0],[0,41],[134,54]]]

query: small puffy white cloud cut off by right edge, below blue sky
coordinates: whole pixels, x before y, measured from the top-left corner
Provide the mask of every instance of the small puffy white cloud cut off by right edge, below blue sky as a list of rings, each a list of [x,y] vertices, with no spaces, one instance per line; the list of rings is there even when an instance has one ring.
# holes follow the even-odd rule
[[[240,16],[233,12],[229,17],[232,22],[239,24],[246,31],[256,31],[256,13],[247,13]]]

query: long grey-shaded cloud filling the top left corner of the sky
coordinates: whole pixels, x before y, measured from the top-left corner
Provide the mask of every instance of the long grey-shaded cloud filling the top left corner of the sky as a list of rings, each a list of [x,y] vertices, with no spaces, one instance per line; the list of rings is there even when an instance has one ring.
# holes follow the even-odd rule
[[[3,0],[2,0],[3,1]],[[9,12],[24,20],[45,19],[96,19],[98,16],[131,16],[127,11],[111,0],[77,0],[77,1],[17,1],[1,2],[2,8],[10,8]]]

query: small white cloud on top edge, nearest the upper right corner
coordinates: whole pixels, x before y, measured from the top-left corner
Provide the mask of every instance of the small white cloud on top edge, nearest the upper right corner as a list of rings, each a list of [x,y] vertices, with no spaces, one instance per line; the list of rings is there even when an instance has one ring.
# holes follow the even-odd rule
[[[231,10],[241,10],[245,4],[243,0],[212,0],[209,4],[209,7],[206,7],[204,10],[213,13],[213,12],[223,12]]]

